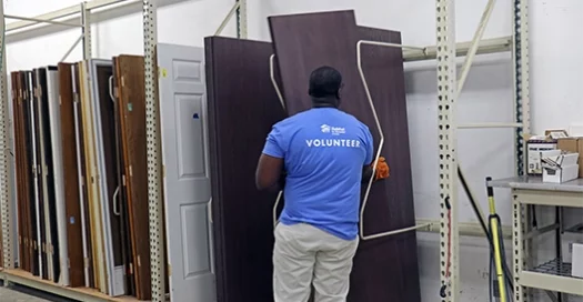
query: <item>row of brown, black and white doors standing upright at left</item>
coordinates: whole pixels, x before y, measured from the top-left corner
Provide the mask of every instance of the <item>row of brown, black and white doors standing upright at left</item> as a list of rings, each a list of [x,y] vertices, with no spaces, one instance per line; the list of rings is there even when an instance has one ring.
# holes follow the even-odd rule
[[[151,299],[143,58],[11,73],[18,265]]]

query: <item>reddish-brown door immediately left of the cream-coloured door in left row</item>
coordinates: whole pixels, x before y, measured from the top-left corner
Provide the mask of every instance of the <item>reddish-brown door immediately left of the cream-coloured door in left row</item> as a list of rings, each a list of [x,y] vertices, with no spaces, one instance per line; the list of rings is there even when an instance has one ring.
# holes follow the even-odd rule
[[[79,165],[77,162],[77,137],[71,66],[59,63],[59,95],[61,100],[61,143],[64,179],[64,205],[67,215],[67,242],[69,279],[72,288],[84,286],[83,242],[81,204],[79,200]]]

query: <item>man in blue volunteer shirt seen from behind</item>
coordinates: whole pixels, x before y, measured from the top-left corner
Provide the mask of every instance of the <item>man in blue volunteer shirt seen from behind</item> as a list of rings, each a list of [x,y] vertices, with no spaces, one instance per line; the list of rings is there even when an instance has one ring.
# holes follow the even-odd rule
[[[339,110],[342,85],[335,69],[314,70],[313,108],[273,125],[259,160],[258,189],[284,187],[273,250],[275,302],[308,301],[312,282],[316,302],[346,300],[373,140],[366,125]]]

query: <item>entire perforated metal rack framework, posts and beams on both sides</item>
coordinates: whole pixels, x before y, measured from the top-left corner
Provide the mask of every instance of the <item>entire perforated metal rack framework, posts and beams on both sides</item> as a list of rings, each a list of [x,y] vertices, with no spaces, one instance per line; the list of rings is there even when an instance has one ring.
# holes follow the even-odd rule
[[[79,41],[83,41],[84,58],[91,58],[90,38],[90,11],[97,8],[104,8],[111,4],[124,6],[135,1],[127,0],[93,0],[83,3],[82,7],[73,6],[59,11],[49,12],[36,18],[22,18],[20,22],[8,26],[0,26],[0,32],[16,30],[39,22],[62,23],[64,20],[82,14],[83,36]],[[150,244],[152,259],[152,301],[165,301],[164,294],[164,236],[161,231],[163,228],[162,199],[161,199],[161,163],[160,163],[160,123],[158,108],[155,44],[157,44],[157,0],[142,0],[143,4],[143,49],[145,56],[145,93],[147,93],[147,134],[148,134],[148,182],[149,182],[149,210],[150,210]],[[524,143],[522,133],[530,131],[530,98],[529,98],[529,23],[527,23],[527,0],[513,0],[513,34],[497,39],[482,40],[482,33],[487,23],[489,16],[494,3],[489,1],[482,22],[472,42],[455,42],[455,13],[454,0],[435,0],[436,3],[436,38],[438,44],[423,48],[422,50],[404,51],[405,61],[430,60],[438,61],[438,102],[439,102],[439,135],[440,135],[440,207],[441,219],[424,223],[429,225],[426,230],[440,232],[441,246],[441,282],[445,286],[445,296],[442,301],[460,301],[460,278],[459,278],[459,236],[460,234],[476,235],[480,231],[475,225],[458,223],[458,158],[456,158],[456,130],[460,128],[516,128],[516,173],[524,171]],[[0,19],[4,20],[3,1],[0,0]],[[238,37],[247,38],[247,0],[237,0],[233,12],[229,13],[228,20],[237,14]],[[490,11],[490,12],[489,12]],[[220,32],[220,30],[219,30]],[[6,37],[0,37],[0,44],[3,46]],[[76,43],[77,44],[77,43]],[[73,46],[74,47],[74,46]],[[514,102],[516,105],[515,121],[504,123],[482,123],[460,125],[455,122],[455,104],[459,92],[463,87],[465,77],[471,67],[475,54],[493,53],[512,50],[514,66]],[[4,254],[4,272],[2,275],[6,281],[31,285],[30,280],[11,276],[6,273],[14,266],[12,253],[14,240],[12,235],[14,209],[12,209],[13,193],[10,187],[10,165],[9,151],[12,142],[12,131],[10,129],[10,118],[8,115],[7,97],[7,69],[6,69],[6,48],[2,48],[2,66],[0,68],[0,148],[4,150],[0,154],[0,217],[2,219],[2,251]],[[69,54],[69,52],[67,53]],[[456,78],[455,58],[466,56],[462,77]],[[66,56],[67,57],[67,56]],[[524,211],[527,211],[524,208]],[[450,215],[451,214],[451,215]],[[79,293],[71,289],[60,286],[49,286],[38,283],[42,290],[58,293],[64,296],[79,299]],[[77,294],[77,295],[76,295]],[[107,301],[94,296],[83,296],[83,301]]]

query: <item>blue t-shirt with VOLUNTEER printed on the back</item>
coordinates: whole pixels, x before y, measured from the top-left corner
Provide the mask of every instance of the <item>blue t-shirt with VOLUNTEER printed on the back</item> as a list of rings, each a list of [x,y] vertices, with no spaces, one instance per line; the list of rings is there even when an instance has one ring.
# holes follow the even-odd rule
[[[356,238],[362,168],[373,158],[366,125],[334,108],[311,109],[273,125],[263,153],[283,159],[288,172],[282,223]]]

